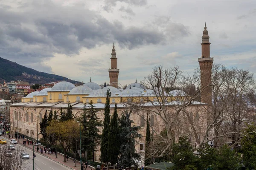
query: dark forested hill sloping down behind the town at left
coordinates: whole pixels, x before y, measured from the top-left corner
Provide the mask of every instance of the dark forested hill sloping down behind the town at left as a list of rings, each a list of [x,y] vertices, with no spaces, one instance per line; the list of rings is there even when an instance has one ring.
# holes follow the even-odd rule
[[[16,62],[11,62],[8,59],[3,59],[0,57],[0,82],[3,82],[4,80],[6,82],[10,82],[12,80],[21,80],[36,84],[56,81],[67,81],[73,84],[79,83],[78,81],[70,80],[67,77],[36,71],[32,68],[19,65]]]

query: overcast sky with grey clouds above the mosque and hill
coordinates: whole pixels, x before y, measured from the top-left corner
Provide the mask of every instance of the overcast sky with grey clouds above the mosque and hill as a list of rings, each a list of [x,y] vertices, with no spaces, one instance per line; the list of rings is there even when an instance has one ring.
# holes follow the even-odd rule
[[[204,22],[215,63],[256,73],[256,0],[0,0],[0,57],[70,79],[122,85],[156,65],[198,67]]]

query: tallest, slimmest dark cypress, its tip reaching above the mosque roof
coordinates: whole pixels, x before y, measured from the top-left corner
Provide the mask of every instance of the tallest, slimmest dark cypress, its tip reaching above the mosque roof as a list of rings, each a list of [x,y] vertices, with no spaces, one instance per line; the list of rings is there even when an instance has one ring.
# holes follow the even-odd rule
[[[104,109],[104,122],[102,129],[102,140],[101,140],[101,161],[108,164],[108,132],[109,132],[109,123],[110,123],[110,96],[111,92],[107,91],[107,98]],[[107,167],[108,168],[108,167]]]

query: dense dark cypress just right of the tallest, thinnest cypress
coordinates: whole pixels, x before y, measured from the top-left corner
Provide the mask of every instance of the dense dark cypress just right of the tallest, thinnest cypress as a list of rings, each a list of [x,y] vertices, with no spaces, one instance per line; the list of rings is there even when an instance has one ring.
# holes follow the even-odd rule
[[[115,105],[115,110],[113,116],[110,121],[109,125],[109,132],[108,132],[108,159],[111,164],[114,165],[117,163],[117,159],[119,156],[119,148],[120,148],[120,136],[119,136],[119,129],[118,129],[118,114],[117,114],[117,106]]]

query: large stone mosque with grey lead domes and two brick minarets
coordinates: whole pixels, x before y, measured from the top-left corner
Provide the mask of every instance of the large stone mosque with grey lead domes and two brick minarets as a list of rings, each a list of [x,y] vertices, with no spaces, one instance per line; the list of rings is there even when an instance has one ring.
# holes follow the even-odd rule
[[[191,106],[187,109],[190,110],[192,114],[199,115],[206,108],[207,103],[211,103],[211,87],[207,85],[211,84],[211,72],[212,72],[212,62],[213,58],[210,57],[210,42],[207,27],[204,27],[203,36],[202,36],[202,56],[198,58],[198,62],[201,69],[201,88],[205,90],[201,93],[201,102],[193,102]],[[98,109],[98,117],[103,121],[104,119],[104,106],[106,102],[106,93],[107,90],[111,91],[111,114],[115,104],[117,104],[118,113],[121,114],[122,111],[127,109],[125,103],[129,99],[135,99],[141,102],[141,98],[146,98],[150,101],[157,101],[157,95],[152,92],[152,90],[144,89],[143,85],[135,81],[127,86],[125,90],[119,88],[118,77],[119,69],[117,68],[117,58],[116,58],[116,49],[113,45],[111,53],[111,68],[108,69],[110,86],[102,88],[100,85],[92,82],[85,83],[84,85],[75,86],[70,82],[58,82],[52,88],[45,88],[40,92],[32,92],[26,97],[22,98],[20,103],[15,103],[10,105],[10,121],[13,122],[11,125],[14,127],[14,130],[19,131],[19,133],[31,136],[34,139],[38,137],[38,127],[39,122],[42,121],[44,113],[51,109],[60,113],[60,109],[67,109],[67,104],[70,104],[73,107],[73,113],[75,119],[83,112],[84,104],[90,101],[93,101],[93,104],[96,109]],[[178,93],[178,94],[177,94]],[[185,92],[183,91],[171,91],[169,93],[171,98],[178,96],[186,97]],[[145,105],[145,107],[150,107]],[[154,108],[152,108],[154,109]],[[203,113],[202,113],[203,114]],[[140,115],[137,113],[132,113],[131,119],[134,121],[134,125],[140,125],[141,130],[140,134],[143,135],[143,138],[138,141],[136,145],[136,150],[138,153],[145,153],[145,119],[146,113],[143,111],[140,112]],[[164,128],[163,120],[158,117],[158,115],[150,114],[150,124],[154,128],[155,132],[160,133]],[[198,118],[199,119],[199,118]],[[206,122],[204,116],[200,115],[200,121]],[[180,120],[182,122],[182,118]],[[186,122],[183,122],[186,124]],[[12,127],[11,127],[12,128]],[[38,129],[39,128],[39,129]],[[178,138],[181,134],[188,133],[188,126],[177,125],[176,130],[174,129],[175,139]],[[205,123],[201,123],[200,127],[202,133],[204,132]],[[40,132],[39,132],[40,133]],[[40,139],[39,135],[38,139]],[[199,138],[199,136],[197,136]],[[99,161],[100,150],[95,152],[95,159]]]

